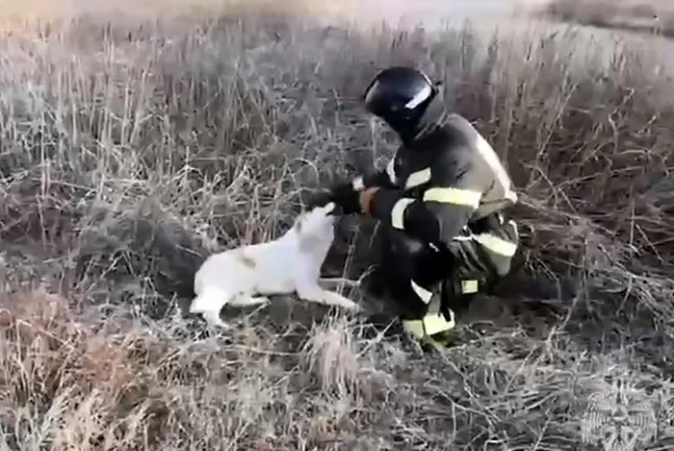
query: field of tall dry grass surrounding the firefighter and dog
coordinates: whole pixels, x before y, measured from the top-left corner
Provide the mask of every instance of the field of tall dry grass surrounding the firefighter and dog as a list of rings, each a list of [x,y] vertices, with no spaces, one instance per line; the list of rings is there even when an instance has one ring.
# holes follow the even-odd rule
[[[582,450],[588,418],[670,449],[674,117],[648,55],[137,20],[0,42],[0,449]],[[182,318],[207,251],[277,236],[310,190],[391,155],[358,99],[391,63],[444,79],[508,161],[513,277],[574,280],[561,318],[501,308],[504,289],[447,355],[292,299],[230,334]],[[357,277],[372,224],[338,232],[326,272]],[[618,382],[633,428],[606,417]]]

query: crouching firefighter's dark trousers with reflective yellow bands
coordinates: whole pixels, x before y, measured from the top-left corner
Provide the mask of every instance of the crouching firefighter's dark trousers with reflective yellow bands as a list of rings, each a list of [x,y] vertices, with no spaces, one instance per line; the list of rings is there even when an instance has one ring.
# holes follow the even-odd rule
[[[495,216],[473,228],[467,227],[444,251],[402,230],[383,231],[382,275],[404,328],[416,338],[453,329],[457,309],[508,272],[517,246],[515,224]],[[496,238],[484,240],[487,234],[509,244],[508,249],[496,248]]]

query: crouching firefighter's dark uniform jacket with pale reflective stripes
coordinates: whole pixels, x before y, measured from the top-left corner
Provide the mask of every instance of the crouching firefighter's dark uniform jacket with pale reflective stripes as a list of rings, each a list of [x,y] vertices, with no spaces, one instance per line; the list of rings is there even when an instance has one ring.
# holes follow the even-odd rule
[[[353,183],[385,188],[372,199],[372,216],[448,249],[465,273],[510,270],[517,227],[499,212],[517,195],[494,149],[463,117],[430,110],[385,171]]]

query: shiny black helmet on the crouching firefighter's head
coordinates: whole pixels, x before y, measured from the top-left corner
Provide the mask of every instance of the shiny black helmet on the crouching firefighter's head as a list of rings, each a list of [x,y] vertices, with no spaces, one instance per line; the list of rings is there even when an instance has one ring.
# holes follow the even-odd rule
[[[437,92],[437,87],[423,72],[411,67],[390,67],[374,77],[363,100],[366,110],[383,119],[403,140],[407,140],[416,133]]]

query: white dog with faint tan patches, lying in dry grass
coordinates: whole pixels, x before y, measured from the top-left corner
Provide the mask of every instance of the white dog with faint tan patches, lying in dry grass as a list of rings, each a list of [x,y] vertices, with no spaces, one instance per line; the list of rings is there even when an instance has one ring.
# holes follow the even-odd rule
[[[301,214],[293,227],[272,242],[252,244],[209,256],[194,276],[190,313],[227,327],[220,309],[269,302],[264,295],[297,293],[300,299],[357,310],[354,301],[319,287],[323,261],[334,240],[335,204]],[[260,296],[262,295],[262,296]]]

